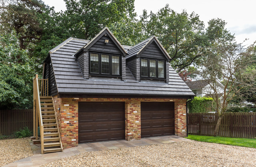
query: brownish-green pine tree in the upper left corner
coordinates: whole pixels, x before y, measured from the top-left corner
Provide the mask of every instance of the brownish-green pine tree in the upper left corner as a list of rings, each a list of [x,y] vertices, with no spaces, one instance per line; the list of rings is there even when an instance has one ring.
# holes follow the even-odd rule
[[[42,35],[37,15],[42,13],[44,3],[41,0],[1,0],[0,4],[0,24],[4,31],[1,34],[15,30],[20,49],[33,50]]]

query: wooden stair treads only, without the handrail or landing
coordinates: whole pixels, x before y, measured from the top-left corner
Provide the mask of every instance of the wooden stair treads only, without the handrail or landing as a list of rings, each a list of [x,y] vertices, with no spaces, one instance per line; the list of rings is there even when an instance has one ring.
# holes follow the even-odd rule
[[[57,152],[63,150],[53,102],[54,101],[52,99],[52,96],[40,96],[42,123],[44,126],[44,153]]]

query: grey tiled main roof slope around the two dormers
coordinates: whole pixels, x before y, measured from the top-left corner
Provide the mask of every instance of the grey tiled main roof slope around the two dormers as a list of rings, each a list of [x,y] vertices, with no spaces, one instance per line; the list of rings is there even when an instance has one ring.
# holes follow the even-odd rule
[[[172,68],[170,68],[169,83],[138,82],[127,67],[125,81],[111,78],[101,78],[100,80],[99,78],[90,78],[86,80],[83,78],[78,62],[73,55],[88,42],[88,40],[68,38],[62,44],[50,50],[58,93],[194,95]],[[123,47],[126,50],[130,48],[129,46]]]

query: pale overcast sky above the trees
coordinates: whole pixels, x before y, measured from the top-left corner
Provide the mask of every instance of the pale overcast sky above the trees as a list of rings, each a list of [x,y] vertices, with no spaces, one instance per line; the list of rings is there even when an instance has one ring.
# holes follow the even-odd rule
[[[43,0],[45,4],[54,6],[56,12],[66,10],[63,0]],[[206,27],[212,18],[221,18],[227,22],[226,28],[235,34],[238,42],[249,39],[245,44],[256,41],[256,1],[255,0],[135,0],[135,12],[138,16],[142,10],[156,13],[169,4],[176,12],[193,11],[200,16]]]

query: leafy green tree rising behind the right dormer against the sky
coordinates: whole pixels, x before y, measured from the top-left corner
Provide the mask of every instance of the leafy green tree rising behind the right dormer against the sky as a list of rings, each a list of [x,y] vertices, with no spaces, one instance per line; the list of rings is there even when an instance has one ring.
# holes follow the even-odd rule
[[[172,67],[180,72],[200,62],[205,47],[204,23],[192,12],[174,12],[167,4],[156,14],[146,10],[140,16],[146,36],[156,36],[171,56]]]

